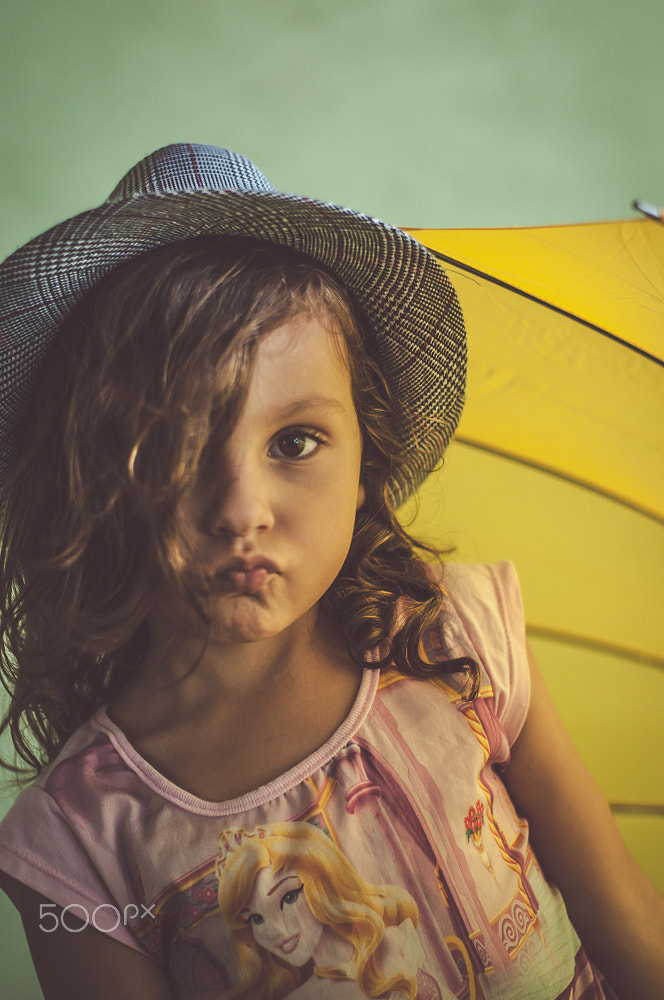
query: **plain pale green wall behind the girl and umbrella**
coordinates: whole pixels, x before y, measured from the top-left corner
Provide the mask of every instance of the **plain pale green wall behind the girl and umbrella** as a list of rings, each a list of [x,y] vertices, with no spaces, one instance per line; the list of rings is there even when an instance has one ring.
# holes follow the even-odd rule
[[[3,0],[0,256],[174,141],[397,225],[664,201],[661,0]],[[0,802],[0,811],[9,793]],[[41,996],[0,902],[0,998]]]

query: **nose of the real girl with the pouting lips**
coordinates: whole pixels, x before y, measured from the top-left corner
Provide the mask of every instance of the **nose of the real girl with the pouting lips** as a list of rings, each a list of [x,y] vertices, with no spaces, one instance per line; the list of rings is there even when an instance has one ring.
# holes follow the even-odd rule
[[[234,463],[214,490],[207,511],[213,534],[245,537],[274,525],[266,475],[249,462]]]

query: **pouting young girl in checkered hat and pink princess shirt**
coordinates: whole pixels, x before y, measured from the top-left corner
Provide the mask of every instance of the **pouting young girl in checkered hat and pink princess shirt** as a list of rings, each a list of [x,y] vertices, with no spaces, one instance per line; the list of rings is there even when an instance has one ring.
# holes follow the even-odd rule
[[[394,516],[463,404],[436,260],[183,145],[0,278],[5,728],[36,775],[0,879],[47,1000],[657,996],[662,902],[512,568],[443,573]]]

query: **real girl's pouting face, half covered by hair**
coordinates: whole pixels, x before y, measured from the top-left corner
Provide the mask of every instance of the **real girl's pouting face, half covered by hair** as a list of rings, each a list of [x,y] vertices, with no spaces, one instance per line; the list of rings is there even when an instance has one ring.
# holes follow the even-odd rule
[[[282,632],[343,565],[364,500],[344,350],[305,316],[268,334],[232,436],[181,505],[181,529],[210,581],[213,640]]]

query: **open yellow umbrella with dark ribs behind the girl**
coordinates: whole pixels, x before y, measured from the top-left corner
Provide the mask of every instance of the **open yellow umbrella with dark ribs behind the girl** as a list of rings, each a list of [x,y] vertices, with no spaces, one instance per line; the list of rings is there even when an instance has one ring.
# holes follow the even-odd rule
[[[516,563],[561,715],[664,890],[664,226],[408,231],[445,262],[470,355],[413,531]]]

